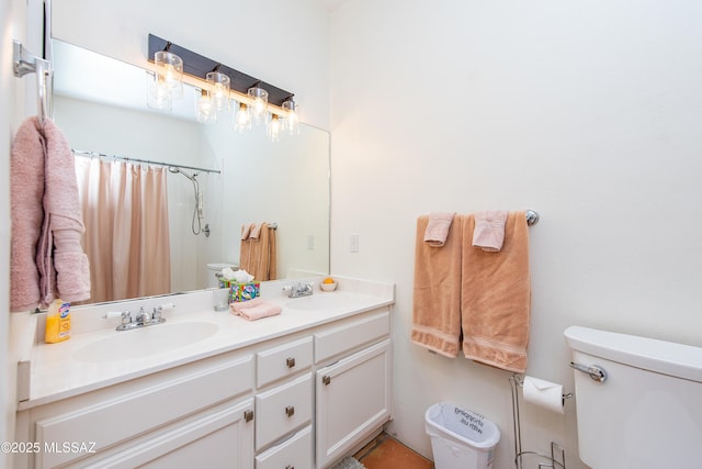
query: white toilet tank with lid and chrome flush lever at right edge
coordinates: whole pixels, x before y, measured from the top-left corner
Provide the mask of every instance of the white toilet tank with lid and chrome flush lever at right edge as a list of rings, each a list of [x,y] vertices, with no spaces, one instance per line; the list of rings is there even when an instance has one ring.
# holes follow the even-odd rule
[[[578,446],[595,469],[702,467],[702,348],[570,326]]]

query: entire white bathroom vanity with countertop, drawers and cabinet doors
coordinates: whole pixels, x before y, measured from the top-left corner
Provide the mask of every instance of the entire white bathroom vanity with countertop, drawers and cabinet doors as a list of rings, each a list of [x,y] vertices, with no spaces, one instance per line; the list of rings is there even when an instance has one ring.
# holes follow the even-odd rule
[[[137,331],[71,312],[70,340],[32,348],[16,467],[325,468],[365,444],[392,417],[393,286],[284,283],[261,288],[282,313],[253,322],[211,291],[120,304],[176,304]]]

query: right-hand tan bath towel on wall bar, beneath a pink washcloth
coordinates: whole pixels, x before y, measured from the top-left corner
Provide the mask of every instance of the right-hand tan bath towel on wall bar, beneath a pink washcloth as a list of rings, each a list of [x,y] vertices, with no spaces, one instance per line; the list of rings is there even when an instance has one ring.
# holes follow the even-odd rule
[[[483,364],[524,372],[531,311],[525,213],[509,213],[499,253],[471,247],[475,220],[466,216],[463,224],[463,353]]]

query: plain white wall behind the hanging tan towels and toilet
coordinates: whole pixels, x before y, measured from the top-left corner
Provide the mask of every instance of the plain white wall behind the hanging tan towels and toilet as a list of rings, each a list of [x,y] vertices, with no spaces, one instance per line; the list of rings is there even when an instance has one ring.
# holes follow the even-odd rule
[[[353,0],[332,13],[332,272],[397,283],[395,422],[440,400],[502,429],[509,373],[411,345],[416,217],[534,209],[528,373],[571,388],[580,324],[702,346],[702,4]],[[360,235],[360,253],[349,237]],[[574,402],[524,448],[577,458]],[[675,431],[675,429],[671,429]]]

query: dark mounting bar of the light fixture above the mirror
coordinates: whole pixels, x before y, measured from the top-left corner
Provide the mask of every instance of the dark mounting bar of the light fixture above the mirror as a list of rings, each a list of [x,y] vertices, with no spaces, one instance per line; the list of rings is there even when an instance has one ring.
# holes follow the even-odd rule
[[[166,51],[167,48],[169,52],[172,52],[183,59],[183,74],[205,80],[210,71],[219,67],[218,71],[226,75],[231,80],[230,88],[233,90],[246,94],[249,88],[258,83],[260,88],[268,91],[268,102],[270,104],[278,105],[279,108],[283,105],[283,102],[285,102],[287,98],[293,96],[290,91],[285,91],[258,78],[251,77],[250,75],[246,75],[239,70],[227,67],[220,62],[215,62],[182,46],[173,44],[170,41],[149,34],[149,62],[154,62],[154,54],[158,51]]]

